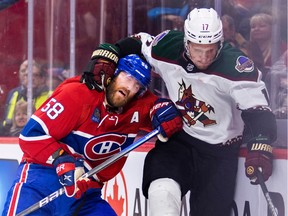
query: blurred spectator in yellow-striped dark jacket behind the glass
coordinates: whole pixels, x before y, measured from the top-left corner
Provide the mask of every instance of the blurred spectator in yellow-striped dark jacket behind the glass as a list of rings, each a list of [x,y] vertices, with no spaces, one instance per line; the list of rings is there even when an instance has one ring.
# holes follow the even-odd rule
[[[51,95],[52,91],[46,84],[47,73],[41,66],[33,61],[32,66],[32,96],[33,107],[39,108],[40,105]],[[27,101],[27,87],[28,87],[28,61],[25,60],[19,69],[19,83],[20,85],[8,92],[5,103],[5,113],[2,123],[1,132],[6,133],[12,126],[13,114],[16,102],[19,100]],[[6,132],[5,132],[6,131]]]

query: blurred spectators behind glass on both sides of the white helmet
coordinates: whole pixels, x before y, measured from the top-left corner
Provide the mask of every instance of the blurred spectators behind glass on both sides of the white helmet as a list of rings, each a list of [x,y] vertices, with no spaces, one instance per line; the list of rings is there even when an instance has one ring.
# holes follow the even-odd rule
[[[280,0],[280,8],[273,8],[272,3],[272,0],[222,0],[221,20],[224,39],[248,55],[261,71],[276,117],[287,119],[287,1]],[[147,12],[150,33],[166,29],[182,31],[191,9],[216,6],[213,0],[153,1]]]

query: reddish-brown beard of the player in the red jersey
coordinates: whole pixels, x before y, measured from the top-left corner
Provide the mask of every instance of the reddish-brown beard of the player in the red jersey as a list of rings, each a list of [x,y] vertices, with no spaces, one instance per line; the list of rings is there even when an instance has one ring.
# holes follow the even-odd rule
[[[117,87],[114,80],[112,80],[106,88],[106,100],[112,107],[124,107],[132,99],[133,97],[131,97],[130,91],[126,88]]]

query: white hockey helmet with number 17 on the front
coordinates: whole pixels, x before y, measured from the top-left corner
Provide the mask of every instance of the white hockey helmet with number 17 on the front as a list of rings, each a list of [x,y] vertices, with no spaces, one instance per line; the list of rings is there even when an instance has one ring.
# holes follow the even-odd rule
[[[222,22],[213,8],[195,8],[184,23],[184,41],[214,44],[223,41]]]

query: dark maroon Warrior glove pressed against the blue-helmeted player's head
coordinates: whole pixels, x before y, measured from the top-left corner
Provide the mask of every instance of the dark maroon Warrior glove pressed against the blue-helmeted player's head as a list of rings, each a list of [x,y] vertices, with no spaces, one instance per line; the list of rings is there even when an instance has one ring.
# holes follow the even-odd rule
[[[119,50],[108,43],[101,44],[91,56],[83,71],[80,82],[85,83],[89,89],[102,91],[114,76],[119,59]]]

